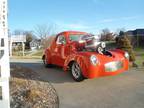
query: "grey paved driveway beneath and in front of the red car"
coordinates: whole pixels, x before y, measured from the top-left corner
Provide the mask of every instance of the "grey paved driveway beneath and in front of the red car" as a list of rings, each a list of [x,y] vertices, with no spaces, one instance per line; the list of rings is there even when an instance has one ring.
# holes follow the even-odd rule
[[[11,60],[33,69],[56,89],[60,108],[144,108],[144,68],[117,76],[75,82],[61,68],[45,68],[41,60]]]

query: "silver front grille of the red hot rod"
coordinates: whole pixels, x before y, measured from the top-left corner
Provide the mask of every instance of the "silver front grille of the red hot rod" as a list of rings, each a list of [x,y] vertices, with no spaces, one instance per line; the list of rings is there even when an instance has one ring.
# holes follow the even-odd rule
[[[109,62],[105,64],[105,71],[106,72],[114,72],[119,69],[123,68],[123,62],[122,61],[114,61],[114,62]]]

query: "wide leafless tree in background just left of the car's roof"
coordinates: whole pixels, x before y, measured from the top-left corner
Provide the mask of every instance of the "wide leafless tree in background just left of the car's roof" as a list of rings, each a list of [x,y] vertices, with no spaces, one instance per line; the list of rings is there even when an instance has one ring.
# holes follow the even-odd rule
[[[35,27],[35,35],[41,39],[43,48],[48,46],[50,43],[48,37],[54,36],[56,34],[56,30],[55,24],[42,24]]]

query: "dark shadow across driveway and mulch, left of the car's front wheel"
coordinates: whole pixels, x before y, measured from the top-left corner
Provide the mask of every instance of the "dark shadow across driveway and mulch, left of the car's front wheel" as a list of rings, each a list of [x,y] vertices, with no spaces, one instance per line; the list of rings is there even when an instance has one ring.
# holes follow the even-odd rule
[[[23,78],[29,80],[39,80],[50,83],[68,83],[75,82],[72,76],[68,72],[64,72],[60,67],[45,68],[43,64],[40,63],[21,63],[12,62],[11,69],[16,66],[18,69],[13,72],[11,71],[11,76],[16,78]]]

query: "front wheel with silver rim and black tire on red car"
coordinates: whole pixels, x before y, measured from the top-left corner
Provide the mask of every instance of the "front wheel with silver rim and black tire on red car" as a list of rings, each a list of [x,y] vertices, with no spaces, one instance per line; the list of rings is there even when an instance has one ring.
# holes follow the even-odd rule
[[[81,68],[77,62],[72,63],[70,71],[75,81],[80,82],[85,79],[84,76],[82,75]]]

